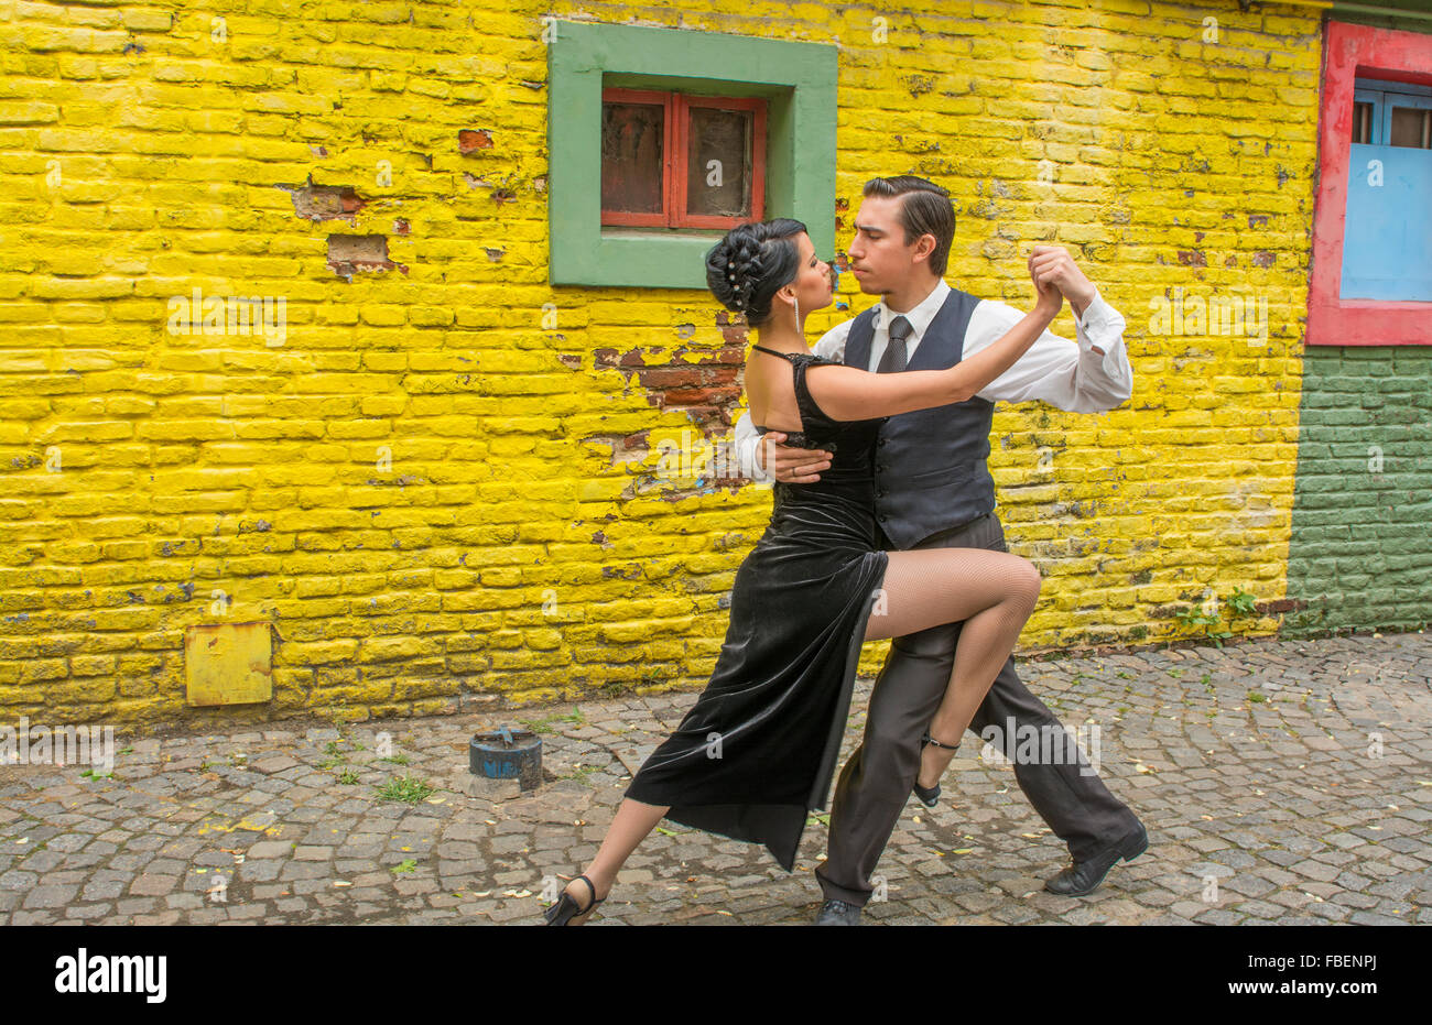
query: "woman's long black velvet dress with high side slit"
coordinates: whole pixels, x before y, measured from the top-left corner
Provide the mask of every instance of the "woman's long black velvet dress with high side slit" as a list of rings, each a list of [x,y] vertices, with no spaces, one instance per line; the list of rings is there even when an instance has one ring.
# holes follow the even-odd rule
[[[832,361],[755,348],[792,364],[802,431],[786,444],[829,451],[831,468],[813,484],[776,482],[766,533],[736,571],[710,683],[626,796],[670,805],[673,822],[765,843],[790,872],[806,816],[826,806],[866,618],[885,580],[874,472],[882,421],[821,411],[805,374]]]

